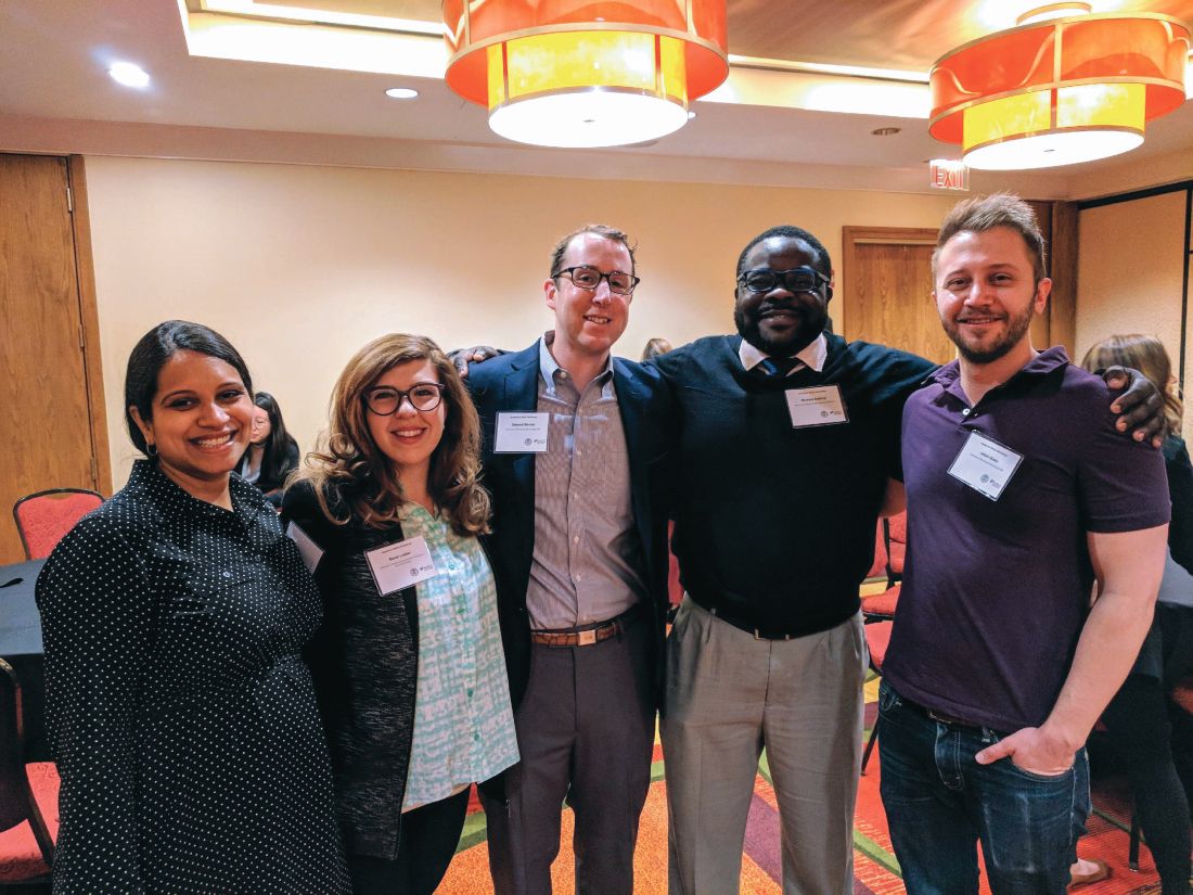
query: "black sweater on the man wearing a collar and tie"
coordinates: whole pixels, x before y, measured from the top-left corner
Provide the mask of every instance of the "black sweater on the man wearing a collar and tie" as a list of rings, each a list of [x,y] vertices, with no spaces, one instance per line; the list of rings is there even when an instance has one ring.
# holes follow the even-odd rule
[[[767,634],[828,630],[858,611],[903,402],[923,358],[828,337],[828,359],[767,381],[742,369],[740,337],[710,337],[654,363],[680,405],[674,550],[705,609]],[[784,391],[837,384],[848,422],[792,428]]]

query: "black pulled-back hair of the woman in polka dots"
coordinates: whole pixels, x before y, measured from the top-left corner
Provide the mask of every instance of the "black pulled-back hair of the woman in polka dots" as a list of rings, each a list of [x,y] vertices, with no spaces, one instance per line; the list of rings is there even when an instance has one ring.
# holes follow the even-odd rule
[[[157,394],[157,375],[179,351],[194,351],[220,358],[235,368],[241,382],[253,394],[253,377],[240,352],[227,339],[210,327],[191,323],[186,320],[167,320],[159,323],[132,347],[129,354],[129,366],[124,372],[124,422],[129,427],[129,438],[138,451],[147,455],[146,437],[137,427],[129,408],[136,407],[141,419],[153,419],[153,399]]]

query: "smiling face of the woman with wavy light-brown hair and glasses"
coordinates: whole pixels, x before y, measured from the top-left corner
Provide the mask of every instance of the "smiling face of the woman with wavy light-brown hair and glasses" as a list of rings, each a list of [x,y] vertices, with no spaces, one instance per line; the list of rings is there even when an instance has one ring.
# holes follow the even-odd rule
[[[434,364],[429,360],[407,360],[387,370],[366,391],[379,388],[409,391],[424,382],[441,382]],[[365,409],[365,420],[377,450],[397,467],[402,483],[421,481],[425,487],[431,471],[431,455],[444,436],[446,396],[431,411],[416,411],[409,399],[402,399],[401,406],[389,416]]]

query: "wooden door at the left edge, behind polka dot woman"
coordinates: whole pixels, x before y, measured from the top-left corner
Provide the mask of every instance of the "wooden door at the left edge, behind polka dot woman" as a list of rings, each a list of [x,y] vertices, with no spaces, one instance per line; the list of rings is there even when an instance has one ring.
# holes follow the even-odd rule
[[[45,488],[107,484],[93,425],[67,159],[0,155],[0,562],[24,558],[12,505]],[[89,264],[89,254],[87,257]],[[84,279],[89,282],[91,272]],[[91,309],[93,311],[93,309]],[[87,320],[87,331],[93,320]],[[92,358],[98,360],[98,357]],[[97,368],[97,364],[92,364]],[[88,372],[92,374],[88,377]],[[105,476],[106,479],[106,476]]]

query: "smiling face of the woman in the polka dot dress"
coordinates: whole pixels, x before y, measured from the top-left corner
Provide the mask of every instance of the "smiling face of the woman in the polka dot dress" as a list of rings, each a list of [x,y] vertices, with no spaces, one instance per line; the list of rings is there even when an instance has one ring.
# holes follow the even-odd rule
[[[157,467],[187,493],[206,500],[227,487],[253,425],[253,400],[230,364],[197,351],[178,351],[157,374],[153,414],[129,413],[157,452]]]

